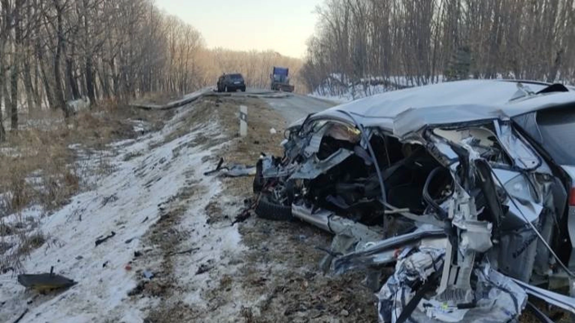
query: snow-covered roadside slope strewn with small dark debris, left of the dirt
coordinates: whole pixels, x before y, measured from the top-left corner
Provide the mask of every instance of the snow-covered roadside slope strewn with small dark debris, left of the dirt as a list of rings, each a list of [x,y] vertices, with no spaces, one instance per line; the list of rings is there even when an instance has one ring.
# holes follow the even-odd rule
[[[161,206],[177,199],[185,187],[193,187],[194,194],[186,201],[189,208],[184,215],[186,220],[180,225],[187,230],[196,228],[190,241],[185,243],[207,239],[210,243],[206,245],[221,248],[214,250],[200,245],[200,249],[175,270],[176,274],[183,275],[184,268],[197,270],[193,267],[206,257],[213,259],[221,253],[241,250],[240,236],[233,226],[202,229],[206,223],[204,209],[210,198],[221,191],[219,180],[202,175],[213,167],[204,161],[221,146],[190,143],[200,135],[217,138],[218,125],[212,122],[164,142],[168,134],[182,126],[182,118],[189,110],[189,106],[179,109],[160,132],[110,145],[109,148],[117,152],[107,157],[114,170],[112,174],[97,179],[94,190],[76,195],[63,209],[48,216],[33,207],[11,216],[36,218],[39,225],[31,234],[42,233],[47,237],[47,243],[24,260],[26,274],[49,272],[54,266],[57,274],[78,284],[57,295],[38,295],[18,284],[14,272],[2,274],[1,322],[16,320],[26,309],[29,312],[22,323],[143,322],[158,299],[128,296],[138,280],[144,278],[142,272],[127,265],[133,262],[136,251],[155,252],[156,246],[144,245],[143,237],[158,222]],[[115,233],[113,237],[95,245],[97,239],[112,233]],[[145,271],[145,264],[142,266]]]

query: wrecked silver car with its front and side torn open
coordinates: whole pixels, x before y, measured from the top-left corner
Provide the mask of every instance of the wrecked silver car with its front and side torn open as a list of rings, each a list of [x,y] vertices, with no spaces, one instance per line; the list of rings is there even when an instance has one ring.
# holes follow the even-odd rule
[[[364,270],[381,322],[547,320],[528,295],[575,313],[575,137],[553,135],[573,116],[573,90],[504,80],[336,106],[262,155],[255,212],[335,234],[321,268]]]

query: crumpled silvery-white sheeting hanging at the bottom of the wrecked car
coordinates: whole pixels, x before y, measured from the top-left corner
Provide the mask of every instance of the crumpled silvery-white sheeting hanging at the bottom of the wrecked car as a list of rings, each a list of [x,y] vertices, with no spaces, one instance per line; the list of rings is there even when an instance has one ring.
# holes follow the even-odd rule
[[[398,261],[395,274],[378,294],[379,322],[395,323],[406,316],[402,312],[409,310],[408,305],[416,296],[410,286],[432,279],[443,265],[443,252],[442,249],[421,248]],[[471,294],[466,296],[465,291],[452,290],[436,295],[430,289],[433,296],[422,297],[407,321],[492,323],[519,318],[526,306],[527,294],[512,279],[489,266],[482,265],[475,274],[477,289]]]

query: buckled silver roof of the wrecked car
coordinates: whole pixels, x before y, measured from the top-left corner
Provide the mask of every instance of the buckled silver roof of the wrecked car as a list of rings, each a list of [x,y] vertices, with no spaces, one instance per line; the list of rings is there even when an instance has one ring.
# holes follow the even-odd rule
[[[313,116],[377,126],[398,137],[430,125],[507,119],[546,107],[575,103],[575,91],[540,93],[551,84],[463,80],[390,91],[332,107]],[[342,113],[341,111],[345,111]]]

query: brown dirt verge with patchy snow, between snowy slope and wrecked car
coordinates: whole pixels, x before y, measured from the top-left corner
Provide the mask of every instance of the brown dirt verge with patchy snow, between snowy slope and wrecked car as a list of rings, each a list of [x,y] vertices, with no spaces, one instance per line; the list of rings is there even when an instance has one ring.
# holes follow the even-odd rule
[[[248,136],[239,137],[239,106],[248,107]],[[217,136],[207,130],[217,124]],[[286,124],[267,103],[256,98],[204,98],[182,117],[178,126],[158,142],[178,140],[202,127],[206,132],[186,145],[213,149],[202,161],[214,168],[225,164],[255,164],[260,152],[281,153]],[[271,129],[274,129],[270,132]],[[153,147],[152,147],[153,148]],[[202,176],[196,171],[196,176]],[[362,287],[361,275],[324,276],[317,263],[330,237],[301,222],[270,222],[255,216],[232,225],[252,197],[252,178],[220,178],[221,186],[209,199],[205,176],[166,205],[162,219],[146,234],[155,252],[139,257],[135,270],[150,270],[157,278],[142,281],[131,297],[158,300],[147,322],[373,322],[377,320],[373,294]],[[209,194],[208,194],[209,195]],[[191,213],[190,213],[191,212]],[[195,220],[194,220],[195,219]],[[200,220],[203,222],[198,222]],[[195,222],[194,222],[195,221]],[[196,237],[196,233],[200,236]],[[227,236],[238,234],[229,247]],[[211,249],[206,245],[213,244]]]

